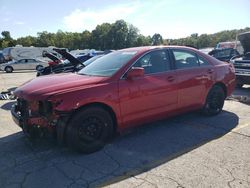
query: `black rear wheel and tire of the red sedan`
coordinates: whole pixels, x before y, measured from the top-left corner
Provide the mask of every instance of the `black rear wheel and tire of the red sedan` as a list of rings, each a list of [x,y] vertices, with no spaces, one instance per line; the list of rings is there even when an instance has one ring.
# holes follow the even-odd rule
[[[225,101],[224,90],[220,86],[213,86],[208,92],[202,113],[207,116],[217,115],[222,111]]]

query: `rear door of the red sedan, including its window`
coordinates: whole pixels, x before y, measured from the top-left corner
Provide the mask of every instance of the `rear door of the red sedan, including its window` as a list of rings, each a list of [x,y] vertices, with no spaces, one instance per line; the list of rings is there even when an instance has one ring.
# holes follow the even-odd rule
[[[213,80],[213,66],[191,50],[172,49],[178,78],[178,108],[204,104]]]

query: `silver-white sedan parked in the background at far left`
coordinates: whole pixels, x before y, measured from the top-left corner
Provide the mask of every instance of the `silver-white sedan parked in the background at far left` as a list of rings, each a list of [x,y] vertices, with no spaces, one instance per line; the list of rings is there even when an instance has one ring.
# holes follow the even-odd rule
[[[38,59],[20,59],[1,64],[0,70],[11,73],[14,70],[39,70],[47,65],[48,62]]]

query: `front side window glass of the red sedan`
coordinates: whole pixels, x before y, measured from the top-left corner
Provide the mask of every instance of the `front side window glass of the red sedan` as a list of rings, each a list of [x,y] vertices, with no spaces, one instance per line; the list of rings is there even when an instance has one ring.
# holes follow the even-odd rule
[[[167,52],[158,50],[144,55],[133,67],[142,67],[145,74],[154,74],[170,70],[170,62]]]

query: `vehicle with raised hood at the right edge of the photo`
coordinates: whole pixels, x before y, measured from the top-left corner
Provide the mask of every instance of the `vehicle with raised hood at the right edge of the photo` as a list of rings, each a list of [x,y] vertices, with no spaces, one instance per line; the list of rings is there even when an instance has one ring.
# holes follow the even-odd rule
[[[250,32],[238,35],[244,54],[233,57],[231,63],[235,67],[237,86],[241,88],[244,84],[250,84]]]

